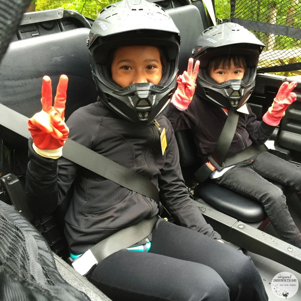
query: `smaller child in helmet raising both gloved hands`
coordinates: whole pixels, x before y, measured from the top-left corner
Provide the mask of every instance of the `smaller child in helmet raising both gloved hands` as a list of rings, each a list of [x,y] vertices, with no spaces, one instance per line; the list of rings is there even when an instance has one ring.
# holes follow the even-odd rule
[[[262,47],[263,44],[240,25],[224,23],[213,26],[197,41],[194,59],[200,60],[198,75],[195,70],[195,75],[185,73],[178,78],[179,88],[172,99],[174,107],[168,108],[166,116],[169,116],[174,130],[192,129],[204,163],[213,153],[231,110],[238,109],[240,113],[228,155],[237,154],[252,144],[264,144],[280,123],[285,109],[296,100],[296,94],[291,92],[296,82],[284,82],[263,120],[256,120],[246,102],[255,85]],[[190,64],[192,66],[192,59]],[[191,101],[195,79],[196,94]],[[301,234],[290,216],[284,194],[266,180],[284,183],[294,189],[301,200],[299,167],[264,151],[221,171],[216,170],[210,177],[216,183],[262,203],[281,239],[301,247]]]

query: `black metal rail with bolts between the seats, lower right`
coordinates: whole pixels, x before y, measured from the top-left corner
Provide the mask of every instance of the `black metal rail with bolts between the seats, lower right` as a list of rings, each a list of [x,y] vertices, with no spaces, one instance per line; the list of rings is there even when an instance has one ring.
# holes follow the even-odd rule
[[[222,239],[301,273],[301,250],[244,222],[195,201],[206,221]]]

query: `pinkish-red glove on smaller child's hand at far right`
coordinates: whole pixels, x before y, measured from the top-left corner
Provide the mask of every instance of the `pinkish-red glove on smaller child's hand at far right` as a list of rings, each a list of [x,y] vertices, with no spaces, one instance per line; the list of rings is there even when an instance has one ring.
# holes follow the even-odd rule
[[[284,116],[287,107],[297,99],[297,95],[291,92],[297,83],[284,82],[272,103],[272,106],[268,108],[268,111],[263,115],[262,120],[270,126],[278,126],[281,118]]]

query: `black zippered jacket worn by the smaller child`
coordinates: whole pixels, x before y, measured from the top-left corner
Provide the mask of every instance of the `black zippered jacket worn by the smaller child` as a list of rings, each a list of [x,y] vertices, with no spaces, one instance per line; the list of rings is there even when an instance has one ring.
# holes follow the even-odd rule
[[[249,114],[239,113],[237,128],[228,150],[234,155],[249,147],[252,143],[264,144],[272,135],[275,126],[257,121],[256,115],[247,104]],[[213,153],[225,125],[227,115],[221,107],[194,95],[188,109],[178,110],[169,105],[164,111],[174,131],[191,129],[197,144],[198,156],[206,160]]]

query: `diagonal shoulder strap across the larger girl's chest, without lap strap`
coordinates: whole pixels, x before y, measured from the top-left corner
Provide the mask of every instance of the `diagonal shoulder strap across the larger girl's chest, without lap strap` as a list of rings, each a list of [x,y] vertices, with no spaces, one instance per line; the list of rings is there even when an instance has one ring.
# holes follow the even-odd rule
[[[0,125],[5,126],[28,139],[30,138],[30,132],[27,124],[28,117],[0,104]],[[131,169],[128,169],[69,138],[63,146],[63,156],[112,182],[155,200],[158,208],[160,208],[159,192],[156,185]]]

